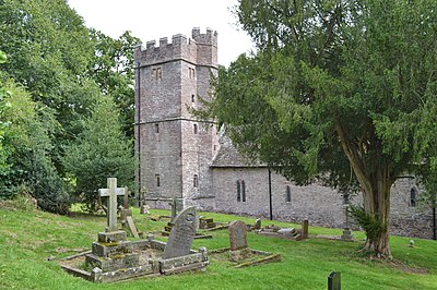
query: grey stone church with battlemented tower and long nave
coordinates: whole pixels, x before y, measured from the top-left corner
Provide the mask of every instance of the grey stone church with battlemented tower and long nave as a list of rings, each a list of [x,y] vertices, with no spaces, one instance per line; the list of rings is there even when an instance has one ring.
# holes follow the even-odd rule
[[[199,98],[211,97],[210,80],[217,75],[216,32],[193,28],[190,38],[178,34],[172,41],[147,41],[135,48],[134,58],[137,184],[149,205],[169,208],[169,198],[177,198],[200,210],[346,226],[346,204],[359,203],[359,195],[349,198],[319,184],[297,186],[243,158],[213,120],[191,116]],[[435,216],[420,194],[413,177],[392,186],[391,234],[435,237]]]

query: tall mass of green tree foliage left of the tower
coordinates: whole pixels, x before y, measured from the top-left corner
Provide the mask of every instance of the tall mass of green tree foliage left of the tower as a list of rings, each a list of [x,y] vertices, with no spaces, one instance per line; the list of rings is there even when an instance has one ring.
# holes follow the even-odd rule
[[[63,146],[81,134],[83,120],[103,94],[117,101],[125,135],[131,134],[129,49],[137,39],[129,33],[111,39],[88,29],[64,0],[0,0],[0,50],[9,56],[1,67],[2,81],[24,99],[14,102],[17,116],[1,116],[14,131],[8,138],[13,146],[0,147],[2,193],[12,196],[24,184],[44,209],[66,213],[71,172],[60,161]]]

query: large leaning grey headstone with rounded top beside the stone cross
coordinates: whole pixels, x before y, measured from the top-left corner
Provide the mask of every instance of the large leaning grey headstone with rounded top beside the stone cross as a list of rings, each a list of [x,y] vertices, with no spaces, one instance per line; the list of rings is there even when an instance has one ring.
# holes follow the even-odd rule
[[[190,253],[197,228],[196,208],[188,207],[174,219],[163,258],[185,256]]]

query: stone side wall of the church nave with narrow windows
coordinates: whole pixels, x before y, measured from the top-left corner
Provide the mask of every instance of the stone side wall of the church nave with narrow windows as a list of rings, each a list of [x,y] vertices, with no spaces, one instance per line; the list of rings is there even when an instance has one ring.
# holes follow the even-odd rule
[[[273,172],[271,179],[273,219],[294,222],[308,219],[312,226],[345,227],[344,200],[339,192],[318,184],[297,186]],[[237,202],[237,180],[245,181],[246,202]],[[286,186],[291,189],[291,202],[286,202]],[[432,210],[420,202],[415,207],[411,206],[410,190],[413,186],[416,188],[413,179],[400,179],[391,190],[390,233],[432,239]],[[269,171],[265,168],[214,168],[213,188],[215,210],[270,217]],[[421,190],[417,192],[418,201]],[[352,196],[351,203],[361,204],[361,194]],[[353,222],[351,226],[356,229]]]

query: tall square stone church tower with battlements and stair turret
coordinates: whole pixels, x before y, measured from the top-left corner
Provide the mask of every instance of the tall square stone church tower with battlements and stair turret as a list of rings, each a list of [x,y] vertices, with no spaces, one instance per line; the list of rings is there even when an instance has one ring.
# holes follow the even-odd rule
[[[211,162],[218,149],[215,125],[196,120],[189,109],[210,98],[210,77],[217,74],[217,33],[192,29],[191,39],[147,41],[137,47],[137,181],[153,207],[165,198],[184,206],[213,203]]]

